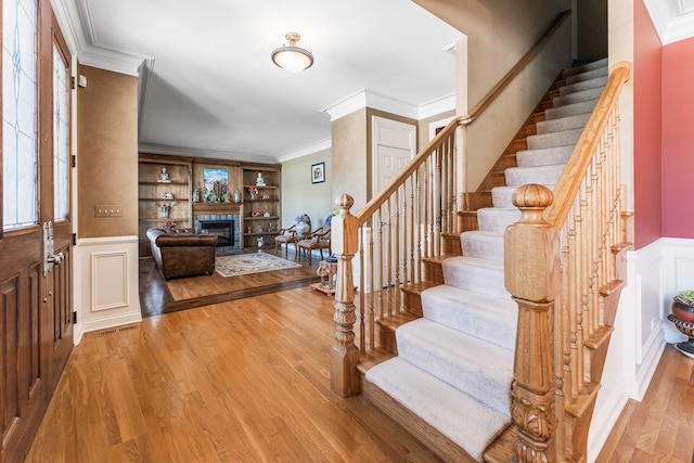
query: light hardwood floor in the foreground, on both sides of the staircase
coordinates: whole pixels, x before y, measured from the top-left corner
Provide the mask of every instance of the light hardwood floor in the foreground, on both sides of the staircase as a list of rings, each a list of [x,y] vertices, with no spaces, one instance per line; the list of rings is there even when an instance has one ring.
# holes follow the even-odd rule
[[[297,288],[87,334],[26,461],[438,461],[361,398],[332,395],[332,304]],[[693,452],[694,360],[668,346],[597,462]]]

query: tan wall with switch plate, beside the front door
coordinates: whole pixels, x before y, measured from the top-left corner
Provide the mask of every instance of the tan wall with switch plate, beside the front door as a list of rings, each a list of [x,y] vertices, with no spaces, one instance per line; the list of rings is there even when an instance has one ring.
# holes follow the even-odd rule
[[[137,77],[79,66],[77,95],[77,236],[138,234]],[[119,205],[121,217],[94,217],[95,205]]]

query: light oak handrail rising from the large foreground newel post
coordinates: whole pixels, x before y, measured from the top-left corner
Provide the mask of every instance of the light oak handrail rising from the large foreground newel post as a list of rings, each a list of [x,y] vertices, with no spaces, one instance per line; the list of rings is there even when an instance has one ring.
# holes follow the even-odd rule
[[[554,188],[554,202],[544,213],[544,219],[556,228],[564,227],[564,221],[568,215],[568,210],[573,206],[573,198],[578,194],[581,182],[583,181],[583,172],[591,163],[591,157],[597,147],[602,136],[602,128],[607,124],[615,106],[621,88],[629,81],[631,77],[631,65],[628,62],[619,62],[615,64],[611,72],[605,90],[601,94],[595,111],[591,114],[586,129],[581,133],[571,156],[566,164],[566,168],[562,171],[560,179]]]

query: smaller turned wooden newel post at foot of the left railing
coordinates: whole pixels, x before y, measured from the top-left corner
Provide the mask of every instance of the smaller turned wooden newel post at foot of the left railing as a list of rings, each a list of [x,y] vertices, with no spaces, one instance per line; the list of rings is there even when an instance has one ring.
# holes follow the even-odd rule
[[[335,286],[335,345],[330,352],[330,383],[333,393],[346,398],[359,394],[359,349],[355,345],[355,282],[351,259],[357,254],[359,223],[349,208],[355,200],[342,194],[335,200],[339,215],[332,221],[332,250],[337,257]]]

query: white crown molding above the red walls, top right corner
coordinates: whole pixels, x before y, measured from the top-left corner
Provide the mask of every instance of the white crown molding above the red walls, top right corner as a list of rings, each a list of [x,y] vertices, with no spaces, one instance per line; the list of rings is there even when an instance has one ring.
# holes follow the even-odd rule
[[[694,1],[643,0],[643,3],[664,46],[694,37]]]

